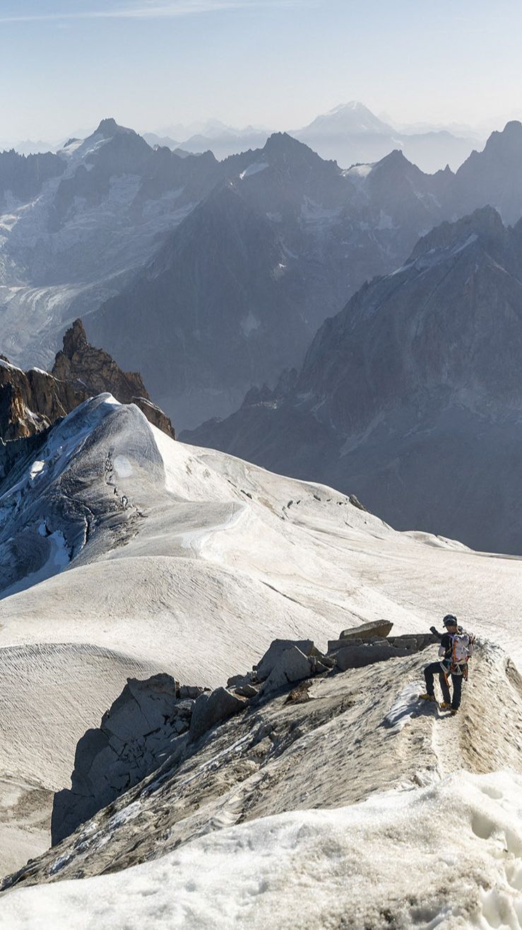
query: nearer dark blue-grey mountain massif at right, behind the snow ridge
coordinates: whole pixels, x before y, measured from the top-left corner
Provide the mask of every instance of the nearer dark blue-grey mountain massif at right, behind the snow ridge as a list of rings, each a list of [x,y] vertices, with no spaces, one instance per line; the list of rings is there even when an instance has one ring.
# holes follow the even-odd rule
[[[521,223],[443,223],[320,327],[294,389],[184,438],[349,487],[398,529],[519,553],[521,282]]]

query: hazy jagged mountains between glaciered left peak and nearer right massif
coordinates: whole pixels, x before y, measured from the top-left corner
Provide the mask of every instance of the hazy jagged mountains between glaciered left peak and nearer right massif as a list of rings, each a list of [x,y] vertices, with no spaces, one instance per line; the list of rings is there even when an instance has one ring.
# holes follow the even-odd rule
[[[510,124],[456,175],[425,175],[400,152],[342,171],[274,134],[219,163],[218,190],[87,318],[89,336],[143,371],[180,428],[225,417],[253,383],[273,388],[300,365],[324,319],[442,219],[486,204],[522,216],[520,154],[522,127]]]

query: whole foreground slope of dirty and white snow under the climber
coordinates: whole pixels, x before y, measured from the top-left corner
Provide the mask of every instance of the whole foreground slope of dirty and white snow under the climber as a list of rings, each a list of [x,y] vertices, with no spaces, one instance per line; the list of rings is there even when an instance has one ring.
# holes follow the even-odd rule
[[[460,718],[417,699],[398,726],[414,656],[287,685],[192,748],[173,732],[160,769],[7,880],[0,914],[20,928],[38,908],[58,927],[261,927],[270,910],[307,930],[519,927],[522,681],[491,644],[475,659]]]

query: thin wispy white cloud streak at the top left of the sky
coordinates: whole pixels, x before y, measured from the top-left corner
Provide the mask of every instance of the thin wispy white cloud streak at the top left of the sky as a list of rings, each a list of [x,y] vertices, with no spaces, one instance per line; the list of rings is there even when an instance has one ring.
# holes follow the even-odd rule
[[[83,13],[30,13],[24,16],[0,16],[3,22],[44,22],[53,20],[160,20],[199,13],[254,7],[305,7],[310,0],[178,0],[147,7],[120,7],[111,10],[86,10]]]

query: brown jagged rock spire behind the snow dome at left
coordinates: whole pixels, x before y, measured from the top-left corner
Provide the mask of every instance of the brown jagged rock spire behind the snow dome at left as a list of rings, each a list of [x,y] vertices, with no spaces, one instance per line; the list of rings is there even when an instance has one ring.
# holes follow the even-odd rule
[[[109,352],[90,345],[81,320],[74,320],[65,333],[52,374],[88,396],[108,391],[120,404],[136,404],[150,423],[176,439],[170,419],[150,400],[141,375],[123,371]]]

